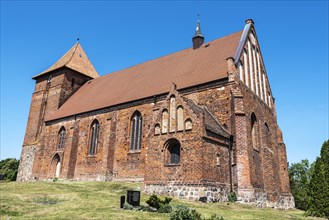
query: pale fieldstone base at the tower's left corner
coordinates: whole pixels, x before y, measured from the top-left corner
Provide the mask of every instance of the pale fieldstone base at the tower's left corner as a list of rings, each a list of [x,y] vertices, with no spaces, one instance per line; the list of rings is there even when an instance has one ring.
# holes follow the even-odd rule
[[[32,169],[34,157],[37,152],[35,145],[23,146],[18,167],[17,181],[33,181]]]

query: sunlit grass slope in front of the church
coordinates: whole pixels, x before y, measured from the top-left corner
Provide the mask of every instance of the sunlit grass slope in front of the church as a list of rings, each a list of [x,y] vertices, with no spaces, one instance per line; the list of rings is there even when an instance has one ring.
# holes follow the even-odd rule
[[[33,182],[0,183],[0,219],[169,219],[168,214],[121,210],[120,196],[128,189],[141,190],[141,183]],[[142,193],[141,203],[148,195]],[[319,219],[304,217],[300,210],[259,209],[237,203],[201,203],[174,198],[204,217],[212,214],[229,219]]]

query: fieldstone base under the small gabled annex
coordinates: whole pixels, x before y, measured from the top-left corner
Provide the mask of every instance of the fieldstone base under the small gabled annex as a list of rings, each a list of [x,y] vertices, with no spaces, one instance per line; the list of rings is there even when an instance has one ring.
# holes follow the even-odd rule
[[[189,200],[200,200],[201,198],[207,202],[226,202],[229,193],[226,188],[190,185],[144,185],[144,192]]]

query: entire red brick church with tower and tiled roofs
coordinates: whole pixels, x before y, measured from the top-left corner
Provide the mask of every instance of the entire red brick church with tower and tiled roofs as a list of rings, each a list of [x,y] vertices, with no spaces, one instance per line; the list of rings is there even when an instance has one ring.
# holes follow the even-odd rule
[[[144,191],[291,208],[286,147],[254,22],[99,76],[76,43],[36,81],[19,181],[142,181]]]

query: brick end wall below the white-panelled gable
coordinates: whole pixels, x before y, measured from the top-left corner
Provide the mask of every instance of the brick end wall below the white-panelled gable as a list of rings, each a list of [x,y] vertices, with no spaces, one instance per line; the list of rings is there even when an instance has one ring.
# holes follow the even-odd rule
[[[269,106],[260,99],[250,88],[243,83],[239,84],[243,95],[243,104],[246,117],[247,149],[250,164],[250,181],[254,188],[262,189],[268,193],[270,200],[278,200],[279,192],[282,192],[282,182],[286,179],[279,175],[281,169],[287,167],[284,164],[279,143],[274,106]],[[257,118],[257,144],[253,146],[251,131],[251,114],[254,113]],[[269,132],[265,126],[268,125]],[[284,171],[282,171],[284,173]]]

